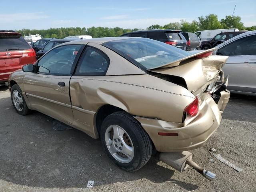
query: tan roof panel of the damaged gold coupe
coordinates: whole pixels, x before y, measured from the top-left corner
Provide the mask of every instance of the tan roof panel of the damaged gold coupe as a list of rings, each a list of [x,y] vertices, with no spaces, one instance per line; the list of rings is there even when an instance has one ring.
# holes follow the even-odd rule
[[[102,37],[102,38],[92,38],[92,39],[75,39],[75,41],[68,42],[65,44],[87,44],[87,43],[96,43],[96,44],[103,44],[105,42],[110,42],[114,40],[122,40],[122,39],[135,39],[140,37]]]

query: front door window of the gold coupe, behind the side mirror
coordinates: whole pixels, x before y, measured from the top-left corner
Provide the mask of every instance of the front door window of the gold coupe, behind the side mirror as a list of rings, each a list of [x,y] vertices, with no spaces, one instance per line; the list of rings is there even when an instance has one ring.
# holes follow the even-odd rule
[[[81,46],[66,45],[51,50],[38,61],[36,71],[46,74],[70,74]]]

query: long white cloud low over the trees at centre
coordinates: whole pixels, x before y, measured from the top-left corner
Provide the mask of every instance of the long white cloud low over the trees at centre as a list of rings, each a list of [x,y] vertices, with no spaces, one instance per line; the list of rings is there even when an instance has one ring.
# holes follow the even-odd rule
[[[121,28],[142,28],[146,29],[150,25],[159,24],[165,25],[170,22],[180,22],[180,20],[186,20],[192,22],[192,19],[186,18],[144,18],[144,19],[130,19],[130,20],[118,20],[118,21],[108,21],[90,24],[86,27],[91,26],[102,26],[102,27],[121,27]],[[86,24],[85,24],[86,25]]]

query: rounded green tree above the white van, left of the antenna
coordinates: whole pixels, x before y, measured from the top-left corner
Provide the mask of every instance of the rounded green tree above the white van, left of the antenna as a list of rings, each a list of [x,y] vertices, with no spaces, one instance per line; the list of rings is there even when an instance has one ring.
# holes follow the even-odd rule
[[[221,29],[222,25],[218,20],[218,16],[215,14],[209,14],[205,17],[198,17],[198,26],[200,30],[212,30],[212,29]]]

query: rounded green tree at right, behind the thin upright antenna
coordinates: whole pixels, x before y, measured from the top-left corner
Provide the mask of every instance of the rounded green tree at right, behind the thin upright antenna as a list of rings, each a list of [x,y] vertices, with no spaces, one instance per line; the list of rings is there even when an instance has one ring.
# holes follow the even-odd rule
[[[244,30],[244,24],[241,22],[240,16],[225,16],[225,19],[220,20],[220,23],[224,28],[238,28]]]

